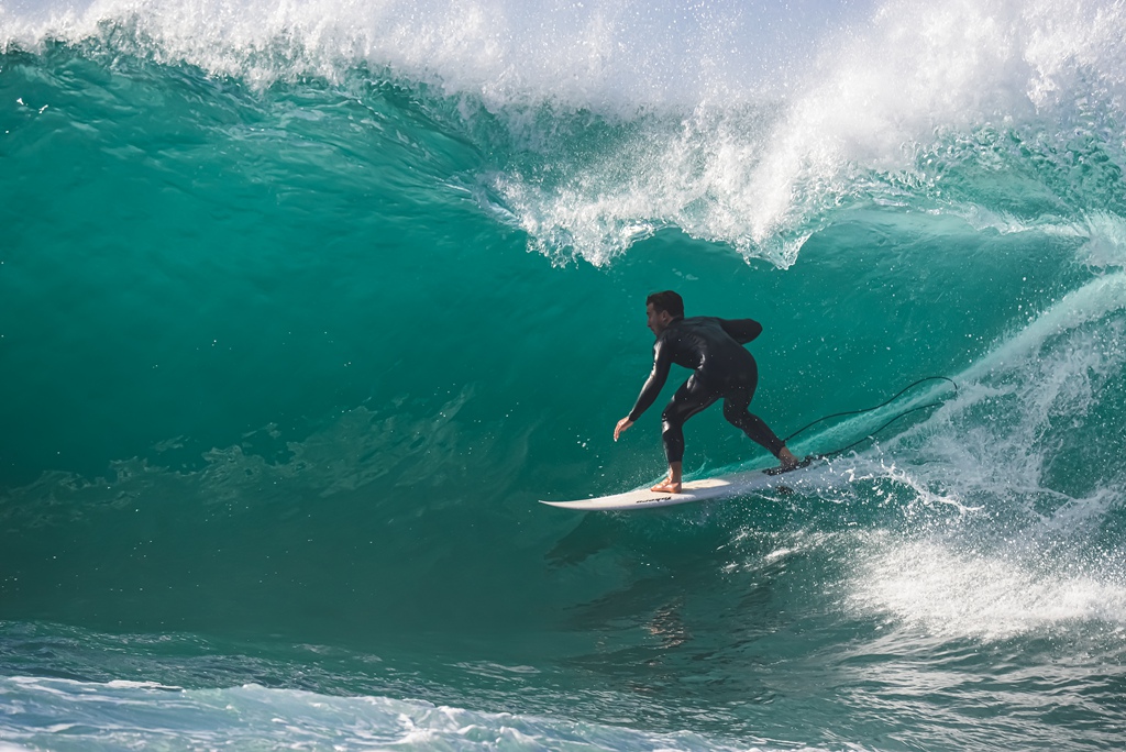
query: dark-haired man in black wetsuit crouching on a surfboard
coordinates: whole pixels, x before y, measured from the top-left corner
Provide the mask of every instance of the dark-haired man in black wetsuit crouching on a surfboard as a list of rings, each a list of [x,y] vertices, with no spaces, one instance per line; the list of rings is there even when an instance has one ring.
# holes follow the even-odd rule
[[[669,476],[654,485],[653,491],[680,493],[685,421],[721,397],[723,417],[777,457],[781,462],[779,471],[801,464],[770,427],[748,410],[759,382],[759,368],[742,346],[762,332],[762,324],[751,319],[685,319],[685,302],[672,290],[653,293],[645,298],[645,314],[649,328],[656,334],[653,371],[633,410],[615,427],[614,440],[617,441],[622,431],[633,426],[656,401],[672,364],[692,369],[692,375],[680,385],[661,413],[661,439],[669,460]]]

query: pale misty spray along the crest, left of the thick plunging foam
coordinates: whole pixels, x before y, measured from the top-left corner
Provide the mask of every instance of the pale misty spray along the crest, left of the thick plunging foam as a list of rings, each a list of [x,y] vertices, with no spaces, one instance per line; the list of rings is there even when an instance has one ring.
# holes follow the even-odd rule
[[[593,0],[47,0],[3,19],[3,42],[104,38],[124,29],[148,52],[267,81],[330,78],[368,63],[501,106],[551,100],[614,108],[739,96],[766,84],[795,47],[848,17],[776,3]],[[751,54],[754,53],[754,54]]]

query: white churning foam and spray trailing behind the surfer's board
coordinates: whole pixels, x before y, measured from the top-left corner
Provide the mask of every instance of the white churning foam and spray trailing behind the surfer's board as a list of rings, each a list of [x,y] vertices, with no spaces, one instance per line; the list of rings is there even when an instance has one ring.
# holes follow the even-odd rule
[[[983,639],[1126,625],[1126,572],[1097,543],[1126,504],[1120,469],[1069,439],[1126,364],[1124,310],[1126,274],[1093,278],[960,374],[932,418],[885,444],[909,459],[883,476],[915,501],[901,529],[863,536],[855,606]],[[1061,464],[1096,472],[1061,474]]]

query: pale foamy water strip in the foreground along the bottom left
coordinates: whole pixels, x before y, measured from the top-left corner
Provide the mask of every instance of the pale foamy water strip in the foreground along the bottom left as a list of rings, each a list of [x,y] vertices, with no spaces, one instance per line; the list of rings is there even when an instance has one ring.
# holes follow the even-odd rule
[[[33,747],[753,750],[689,732],[482,713],[388,697],[336,697],[257,684],[154,692],[144,686],[0,679],[0,734]],[[54,720],[70,724],[53,736]],[[0,743],[3,749],[3,743]],[[9,750],[20,747],[7,747]]]

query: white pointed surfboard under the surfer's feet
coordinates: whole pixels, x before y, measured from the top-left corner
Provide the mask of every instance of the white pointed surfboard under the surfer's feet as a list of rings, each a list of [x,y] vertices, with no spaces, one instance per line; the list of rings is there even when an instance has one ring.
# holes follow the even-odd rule
[[[727,499],[742,494],[768,492],[799,491],[803,486],[824,485],[831,471],[824,460],[813,460],[805,467],[798,467],[779,475],[768,475],[768,468],[744,471],[731,475],[688,481],[681,485],[680,493],[650,491],[647,487],[616,493],[611,496],[597,499],[580,499],[578,501],[543,501],[539,503],[579,511],[633,511],[636,509],[653,509],[654,507],[671,507],[687,504],[694,501]]]

